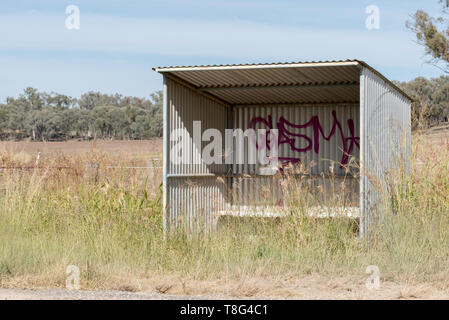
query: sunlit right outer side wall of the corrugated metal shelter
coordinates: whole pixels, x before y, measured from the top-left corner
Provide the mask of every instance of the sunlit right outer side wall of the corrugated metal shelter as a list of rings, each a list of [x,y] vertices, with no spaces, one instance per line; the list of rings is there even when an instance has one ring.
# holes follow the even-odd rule
[[[367,68],[360,78],[360,208],[361,236],[383,209],[382,190],[386,174],[394,166],[408,163],[410,152],[411,102]],[[397,160],[402,159],[402,164]]]

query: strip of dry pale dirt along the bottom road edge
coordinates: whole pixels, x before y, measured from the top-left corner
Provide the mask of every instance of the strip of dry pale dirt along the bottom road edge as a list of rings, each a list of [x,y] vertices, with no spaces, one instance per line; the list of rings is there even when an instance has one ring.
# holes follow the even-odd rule
[[[294,300],[383,300],[449,299],[448,284],[382,282],[368,289],[365,279],[308,276],[298,280],[250,279],[223,285],[221,281],[166,282],[142,291],[84,291],[61,288],[0,289],[0,300],[197,300],[197,299],[294,299]],[[82,288],[81,288],[82,289]]]

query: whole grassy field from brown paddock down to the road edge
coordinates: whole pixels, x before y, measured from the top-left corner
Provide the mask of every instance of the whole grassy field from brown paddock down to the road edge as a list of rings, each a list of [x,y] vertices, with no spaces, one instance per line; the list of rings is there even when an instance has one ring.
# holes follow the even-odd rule
[[[279,223],[261,221],[256,231],[230,223],[213,237],[166,239],[161,170],[129,168],[159,158],[161,149],[161,140],[0,143],[0,287],[63,288],[66,267],[76,265],[85,290],[449,297],[447,131],[413,137],[411,175],[392,179],[369,249],[353,225],[302,214],[304,190]],[[38,169],[17,168],[34,166],[38,152]],[[98,171],[86,171],[93,162]],[[365,287],[369,265],[379,267],[378,290]]]

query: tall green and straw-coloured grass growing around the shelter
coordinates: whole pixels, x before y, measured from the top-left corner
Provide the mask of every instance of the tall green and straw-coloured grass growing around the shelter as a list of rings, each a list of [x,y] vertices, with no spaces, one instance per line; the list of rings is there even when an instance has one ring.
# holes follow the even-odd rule
[[[46,159],[32,172],[5,170],[0,285],[64,286],[67,265],[79,266],[82,285],[92,288],[111,287],[116,278],[170,275],[363,276],[368,265],[379,266],[389,280],[438,281],[449,270],[449,146],[415,141],[412,171],[390,180],[388,206],[369,247],[360,242],[356,221],[307,215],[317,190],[298,179],[287,184],[284,218],[227,218],[212,236],[165,237],[158,175],[149,180],[137,171],[110,170],[90,181],[84,164],[96,161],[104,168],[108,162],[95,153]],[[13,158],[3,151],[4,164]],[[54,169],[56,164],[74,169]]]

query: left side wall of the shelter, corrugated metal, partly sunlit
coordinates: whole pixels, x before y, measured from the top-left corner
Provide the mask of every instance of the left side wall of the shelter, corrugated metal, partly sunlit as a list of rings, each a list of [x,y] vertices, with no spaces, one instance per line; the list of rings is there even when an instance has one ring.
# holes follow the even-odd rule
[[[226,182],[215,174],[225,173],[225,165],[207,165],[201,159],[201,150],[207,142],[195,145],[193,122],[201,121],[201,132],[209,128],[218,129],[224,137],[227,107],[194,90],[165,79],[167,143],[164,150],[165,181],[165,221],[166,230],[183,228],[190,231],[212,228],[214,213],[223,210],[226,198]],[[185,129],[178,141],[171,141],[170,134],[176,129]],[[180,142],[179,142],[180,141]],[[182,143],[183,161],[174,164],[171,150],[175,144]],[[179,146],[179,145],[178,145]],[[193,164],[188,157],[192,156]]]

